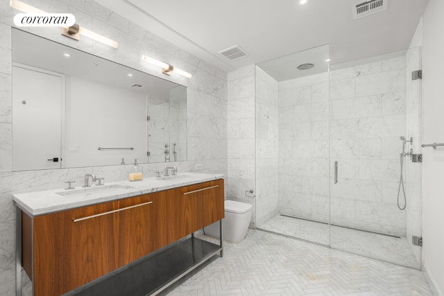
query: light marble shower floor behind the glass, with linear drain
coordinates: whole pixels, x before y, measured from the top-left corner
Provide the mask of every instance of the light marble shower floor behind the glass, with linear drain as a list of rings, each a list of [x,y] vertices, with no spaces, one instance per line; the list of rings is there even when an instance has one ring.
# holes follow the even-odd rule
[[[305,241],[329,245],[329,226],[323,223],[277,215],[260,225],[259,228]],[[332,226],[330,246],[345,252],[411,268],[420,268],[420,263],[414,256],[411,245],[405,237],[395,238]]]

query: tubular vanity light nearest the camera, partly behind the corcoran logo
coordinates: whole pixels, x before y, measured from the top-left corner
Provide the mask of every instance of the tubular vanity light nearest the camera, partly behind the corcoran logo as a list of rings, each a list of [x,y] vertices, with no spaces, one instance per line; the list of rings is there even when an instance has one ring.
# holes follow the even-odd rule
[[[35,8],[34,6],[23,3],[22,1],[19,1],[19,0],[10,0],[10,7],[15,8],[15,9],[20,10],[25,13],[30,13],[30,14],[43,15],[43,14],[47,13],[47,12],[44,12],[43,10]],[[117,49],[117,47],[119,47],[118,42],[115,42],[114,40],[110,40],[109,38],[103,37],[102,35],[99,35],[99,34],[94,33],[92,31],[89,31],[87,28],[83,28],[83,27],[79,26],[78,24],[74,24],[70,27],[62,27],[62,35],[65,35],[67,37],[71,37],[75,40],[80,40],[80,35],[84,35],[88,38],[91,38],[93,40],[102,42],[103,44],[107,44],[111,47],[114,47],[114,49]]]

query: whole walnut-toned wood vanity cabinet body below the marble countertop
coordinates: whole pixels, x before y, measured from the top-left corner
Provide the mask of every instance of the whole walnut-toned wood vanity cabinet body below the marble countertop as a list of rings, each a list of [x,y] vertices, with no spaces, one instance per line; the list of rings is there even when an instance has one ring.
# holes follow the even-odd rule
[[[34,295],[62,295],[224,216],[223,180],[42,216],[22,212],[22,266]]]

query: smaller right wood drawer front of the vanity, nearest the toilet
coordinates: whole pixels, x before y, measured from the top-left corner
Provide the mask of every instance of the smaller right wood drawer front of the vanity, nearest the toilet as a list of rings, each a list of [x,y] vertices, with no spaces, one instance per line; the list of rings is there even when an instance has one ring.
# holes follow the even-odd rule
[[[168,242],[196,232],[224,217],[223,180],[174,189],[168,198]]]

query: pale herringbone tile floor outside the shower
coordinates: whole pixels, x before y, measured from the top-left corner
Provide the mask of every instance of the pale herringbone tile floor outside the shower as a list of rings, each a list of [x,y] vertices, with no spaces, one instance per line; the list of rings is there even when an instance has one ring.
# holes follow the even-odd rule
[[[249,229],[169,295],[432,295],[422,272]]]

